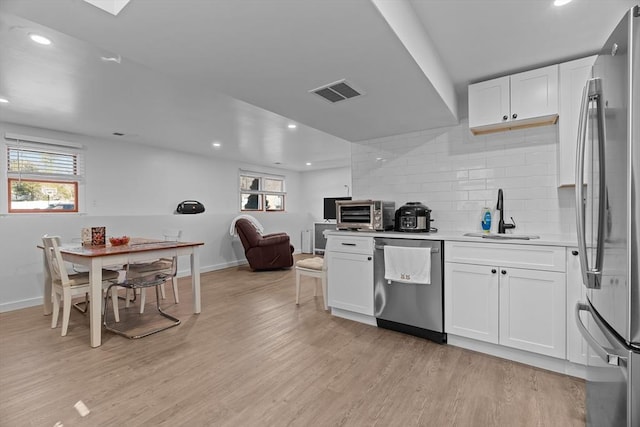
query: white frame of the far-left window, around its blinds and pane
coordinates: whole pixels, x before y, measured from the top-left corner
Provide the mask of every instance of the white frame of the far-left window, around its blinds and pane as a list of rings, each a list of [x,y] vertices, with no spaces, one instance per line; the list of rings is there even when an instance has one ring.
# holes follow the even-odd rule
[[[3,178],[6,182],[6,197],[4,203],[4,212],[8,214],[73,214],[80,213],[84,192],[84,176],[85,176],[85,159],[84,159],[84,146],[66,141],[58,141],[48,138],[31,137],[25,135],[16,135],[5,133],[5,141],[3,144],[2,161]],[[20,166],[16,169],[11,169],[11,155],[12,152],[29,151],[35,153],[42,153],[42,155],[61,155],[71,156],[71,164],[67,168],[62,168],[52,173],[43,172],[38,170],[36,172],[24,170]],[[68,169],[66,172],[64,169]],[[59,172],[59,173],[56,173]],[[69,202],[73,202],[73,209],[51,209],[47,208],[14,208],[12,207],[12,184],[15,182],[35,182],[42,185],[52,184],[69,184],[72,186],[73,199],[69,199]]]

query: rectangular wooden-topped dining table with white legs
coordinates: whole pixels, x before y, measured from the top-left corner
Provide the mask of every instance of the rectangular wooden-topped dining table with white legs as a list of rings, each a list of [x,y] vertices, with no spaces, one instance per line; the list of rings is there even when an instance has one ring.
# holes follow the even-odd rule
[[[79,244],[60,247],[62,258],[75,265],[89,270],[89,323],[91,329],[91,347],[102,344],[102,269],[114,265],[149,261],[157,258],[173,256],[190,256],[191,287],[193,290],[193,312],[198,314],[200,303],[200,257],[199,248],[203,242],[172,242],[157,239],[132,238],[127,245],[82,246]],[[41,247],[41,246],[40,246]],[[45,260],[46,267],[46,260]],[[44,269],[44,312],[50,314],[51,276],[49,269]]]

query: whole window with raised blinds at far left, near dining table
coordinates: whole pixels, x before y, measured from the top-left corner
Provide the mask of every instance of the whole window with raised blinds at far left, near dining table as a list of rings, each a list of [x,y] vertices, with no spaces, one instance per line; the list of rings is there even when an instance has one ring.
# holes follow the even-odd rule
[[[5,139],[9,213],[78,212],[82,148],[8,135]]]

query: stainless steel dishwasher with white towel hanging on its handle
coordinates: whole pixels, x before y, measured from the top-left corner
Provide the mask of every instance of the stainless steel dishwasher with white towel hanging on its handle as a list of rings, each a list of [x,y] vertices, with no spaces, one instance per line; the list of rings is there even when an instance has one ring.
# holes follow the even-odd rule
[[[431,248],[431,283],[385,279],[385,246]],[[379,327],[447,342],[444,332],[443,244],[441,240],[377,237],[373,264],[374,315]]]

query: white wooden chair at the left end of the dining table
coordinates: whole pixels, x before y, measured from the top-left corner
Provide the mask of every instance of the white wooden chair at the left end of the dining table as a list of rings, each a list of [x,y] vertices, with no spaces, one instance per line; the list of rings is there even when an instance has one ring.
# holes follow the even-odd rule
[[[67,335],[69,328],[69,318],[71,316],[71,306],[73,297],[86,296],[89,292],[89,272],[69,273],[64,259],[60,253],[59,236],[43,236],[42,244],[45,251],[49,274],[51,275],[51,297],[53,299],[53,313],[51,317],[51,328],[58,326],[60,314],[60,300],[62,300],[62,331],[61,335]],[[106,290],[117,280],[119,273],[113,270],[102,270],[102,289]],[[112,288],[111,300],[116,322],[120,321],[118,312],[118,291],[117,287]],[[87,305],[88,306],[88,305]],[[104,308],[104,307],[103,307]]]

